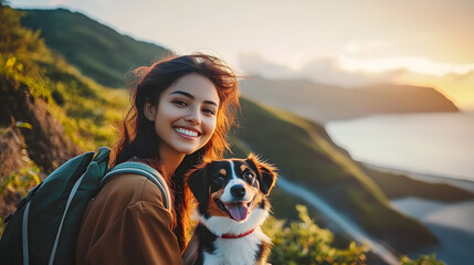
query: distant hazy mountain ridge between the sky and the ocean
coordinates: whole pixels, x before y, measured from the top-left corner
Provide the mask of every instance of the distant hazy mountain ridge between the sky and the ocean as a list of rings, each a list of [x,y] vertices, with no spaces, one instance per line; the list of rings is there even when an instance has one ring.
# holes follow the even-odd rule
[[[307,80],[249,78],[241,87],[244,96],[323,124],[376,114],[459,112],[434,88],[411,85],[341,88]]]

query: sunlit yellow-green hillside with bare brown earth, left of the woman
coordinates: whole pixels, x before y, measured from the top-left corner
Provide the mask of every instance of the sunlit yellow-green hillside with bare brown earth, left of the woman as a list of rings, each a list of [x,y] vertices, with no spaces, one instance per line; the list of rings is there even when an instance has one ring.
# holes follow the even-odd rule
[[[0,45],[0,126],[9,127],[12,119],[32,125],[21,135],[29,157],[45,172],[72,155],[110,145],[116,138],[112,126],[122,119],[127,93],[85,77],[51,52],[38,33],[14,28],[15,19],[2,19],[7,42]]]

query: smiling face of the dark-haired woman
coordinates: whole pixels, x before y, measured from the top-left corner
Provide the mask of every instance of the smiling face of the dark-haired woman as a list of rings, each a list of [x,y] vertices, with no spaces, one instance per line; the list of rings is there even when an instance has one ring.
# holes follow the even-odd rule
[[[160,156],[202,148],[215,130],[219,104],[213,83],[199,74],[185,75],[165,89],[158,106],[146,103],[145,115],[161,139]]]

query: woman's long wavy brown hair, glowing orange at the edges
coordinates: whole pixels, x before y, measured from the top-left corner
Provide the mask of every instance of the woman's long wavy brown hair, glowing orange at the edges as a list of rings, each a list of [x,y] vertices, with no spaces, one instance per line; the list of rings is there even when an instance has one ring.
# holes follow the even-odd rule
[[[113,165],[139,159],[161,171],[158,147],[160,138],[154,123],[145,117],[145,102],[158,105],[161,93],[185,75],[196,73],[209,78],[217,88],[220,104],[217,126],[210,140],[199,150],[187,155],[169,181],[173,201],[173,232],[181,251],[186,248],[187,232],[190,222],[189,205],[191,194],[185,189],[186,172],[206,160],[222,159],[229,149],[228,132],[235,124],[239,109],[239,83],[232,68],[222,60],[207,54],[168,56],[151,66],[134,71],[136,76],[131,85],[131,107],[122,125],[122,137],[114,148]]]

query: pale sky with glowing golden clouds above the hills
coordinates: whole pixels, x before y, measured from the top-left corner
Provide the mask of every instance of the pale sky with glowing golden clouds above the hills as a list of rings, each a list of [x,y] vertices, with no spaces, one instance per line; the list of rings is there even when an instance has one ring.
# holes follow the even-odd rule
[[[14,0],[67,8],[180,54],[217,54],[242,74],[358,87],[438,88],[474,109],[472,0]]]

